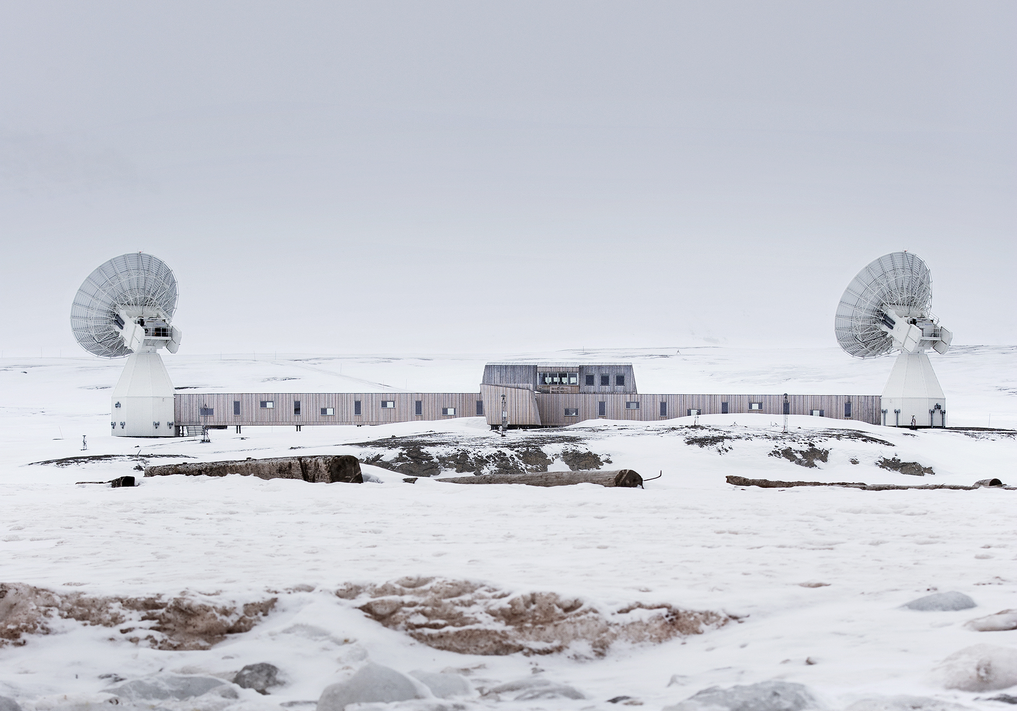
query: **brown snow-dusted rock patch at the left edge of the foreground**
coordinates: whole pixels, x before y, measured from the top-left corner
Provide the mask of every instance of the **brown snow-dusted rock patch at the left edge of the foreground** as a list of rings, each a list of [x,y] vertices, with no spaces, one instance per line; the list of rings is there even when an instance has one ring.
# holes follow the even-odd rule
[[[54,618],[119,628],[121,639],[156,649],[207,649],[227,635],[248,632],[277,598],[238,604],[207,595],[92,597],[0,583],[0,646],[25,643],[23,635],[48,635]]]

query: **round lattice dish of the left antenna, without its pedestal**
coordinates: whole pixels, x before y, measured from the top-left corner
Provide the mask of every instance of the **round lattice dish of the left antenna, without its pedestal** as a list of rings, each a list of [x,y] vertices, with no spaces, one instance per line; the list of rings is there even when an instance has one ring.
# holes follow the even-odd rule
[[[114,325],[118,307],[152,307],[172,318],[177,308],[173,270],[159,257],[131,252],[88,274],[70,310],[70,327],[82,348],[102,358],[131,354]]]

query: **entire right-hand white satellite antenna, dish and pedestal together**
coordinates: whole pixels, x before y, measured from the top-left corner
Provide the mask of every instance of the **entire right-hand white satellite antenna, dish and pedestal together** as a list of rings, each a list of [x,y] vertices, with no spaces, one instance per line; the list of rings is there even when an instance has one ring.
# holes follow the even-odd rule
[[[929,267],[915,254],[893,252],[859,271],[837,305],[834,330],[849,354],[900,351],[883,390],[884,425],[946,427],[946,398],[926,351],[945,353],[953,333],[939,325],[932,304]]]

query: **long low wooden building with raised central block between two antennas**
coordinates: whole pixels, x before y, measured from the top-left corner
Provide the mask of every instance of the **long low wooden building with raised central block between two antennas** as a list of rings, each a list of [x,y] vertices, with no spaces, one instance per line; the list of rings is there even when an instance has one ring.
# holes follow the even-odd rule
[[[469,393],[179,393],[187,427],[387,425],[486,417],[492,428],[563,427],[586,419],[659,422],[696,414],[811,414],[886,425],[879,395],[637,392],[631,363],[489,363]]]

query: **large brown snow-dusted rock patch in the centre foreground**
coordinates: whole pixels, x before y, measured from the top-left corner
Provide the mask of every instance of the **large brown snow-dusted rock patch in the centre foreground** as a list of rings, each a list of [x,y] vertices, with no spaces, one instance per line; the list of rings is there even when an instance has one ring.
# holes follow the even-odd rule
[[[516,593],[467,580],[403,578],[347,584],[336,592],[381,625],[463,654],[553,654],[573,643],[603,655],[614,642],[660,643],[698,635],[731,618],[667,603],[598,609],[553,592]]]

